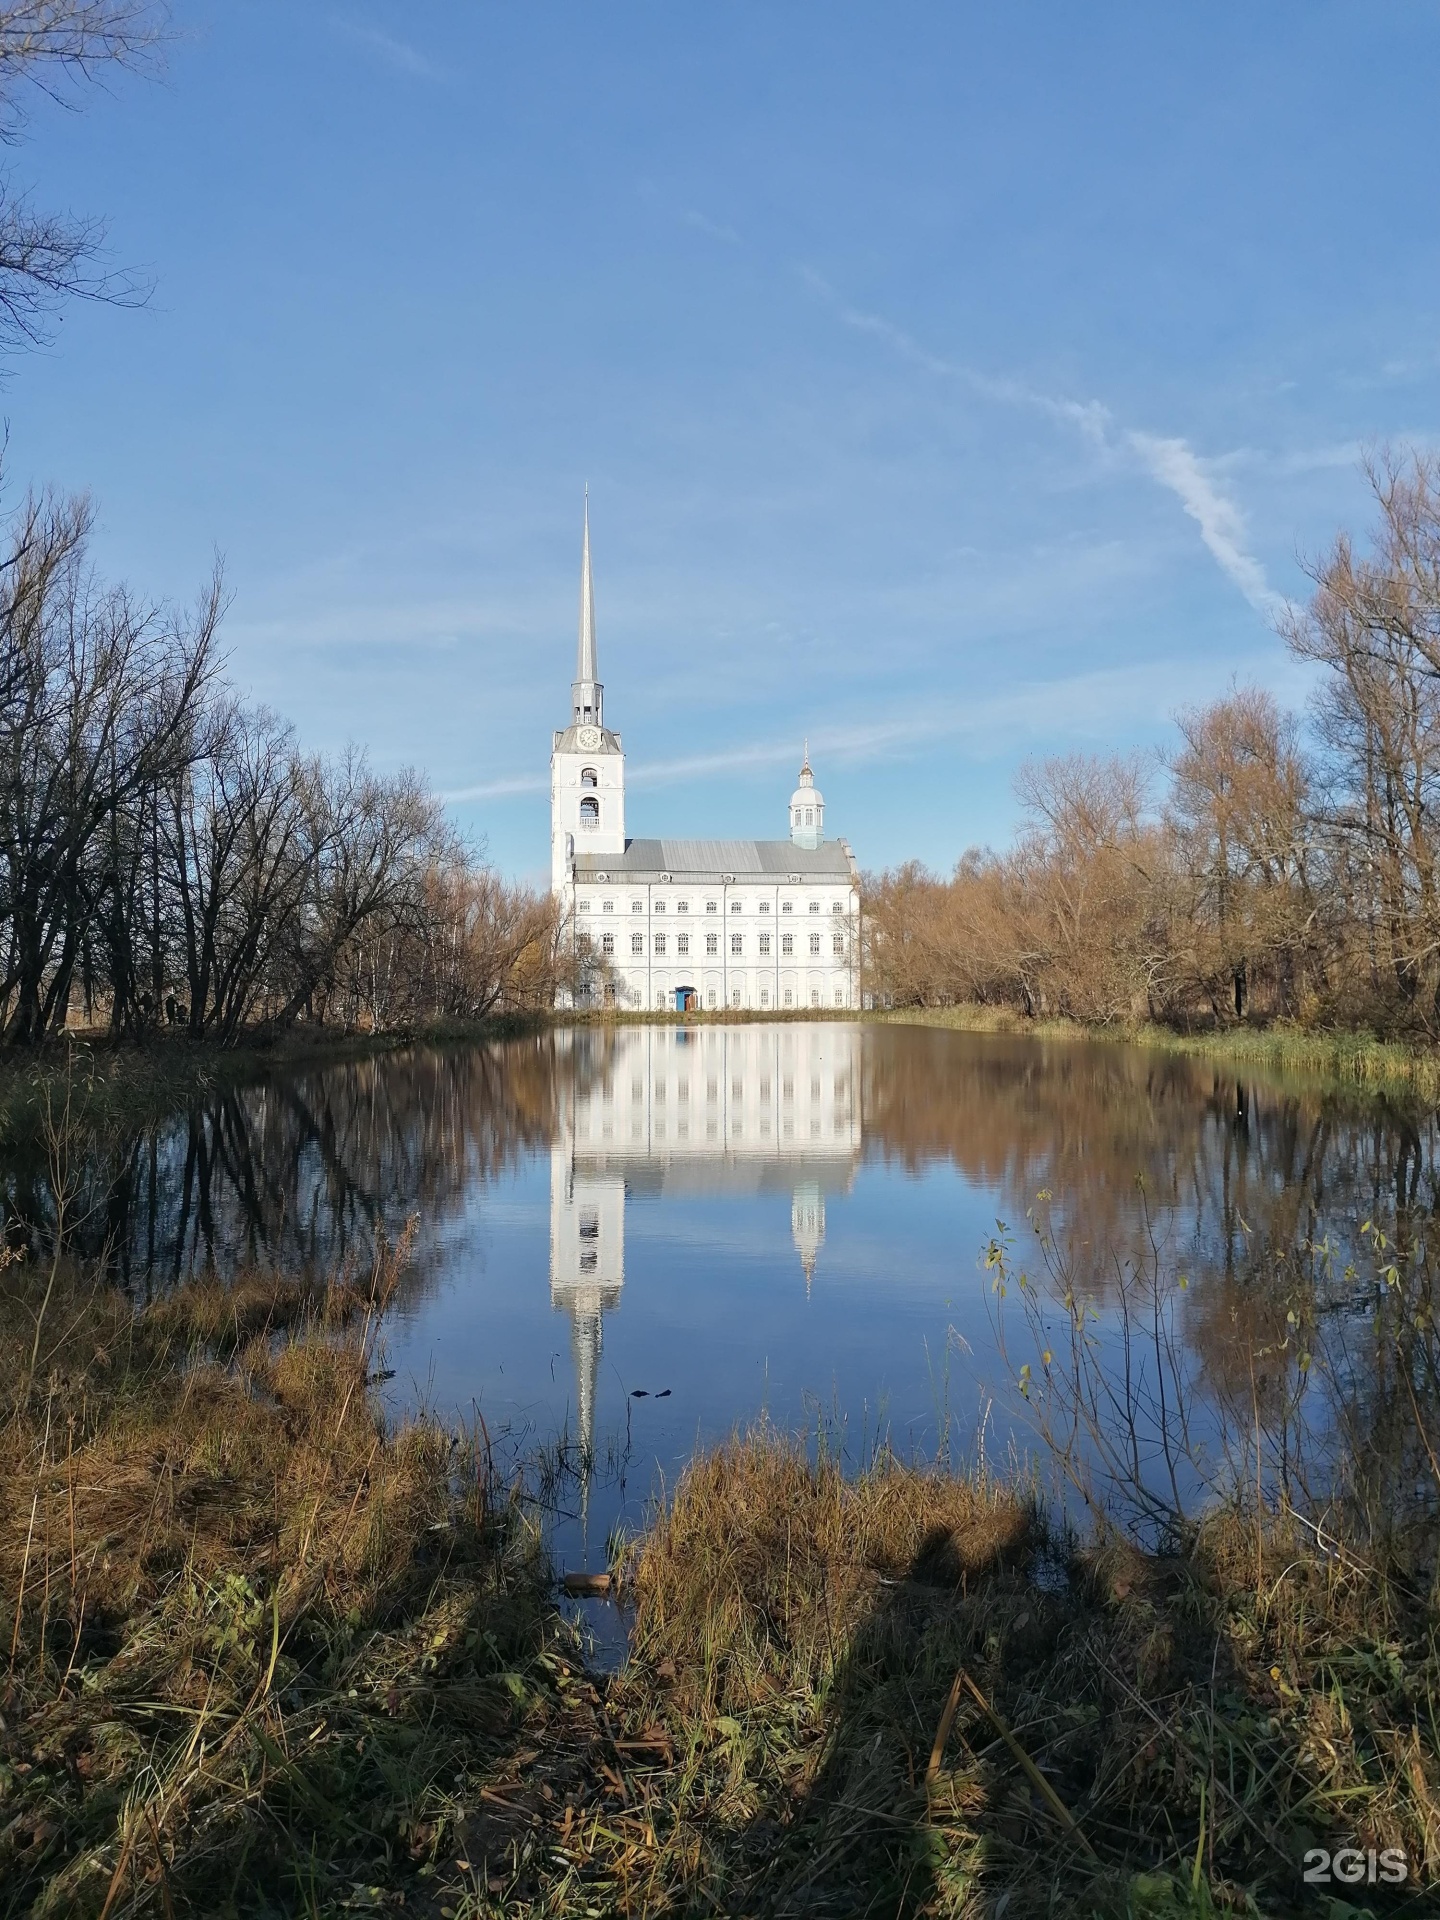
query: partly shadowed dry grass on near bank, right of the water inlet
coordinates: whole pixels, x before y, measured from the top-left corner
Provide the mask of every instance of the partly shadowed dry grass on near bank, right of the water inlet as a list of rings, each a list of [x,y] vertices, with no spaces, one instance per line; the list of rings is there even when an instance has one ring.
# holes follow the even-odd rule
[[[1440,1874],[1434,1609],[1298,1523],[1079,1549],[1004,1486],[756,1434],[689,1469],[634,1596],[597,1910],[1298,1914],[1346,1839]]]

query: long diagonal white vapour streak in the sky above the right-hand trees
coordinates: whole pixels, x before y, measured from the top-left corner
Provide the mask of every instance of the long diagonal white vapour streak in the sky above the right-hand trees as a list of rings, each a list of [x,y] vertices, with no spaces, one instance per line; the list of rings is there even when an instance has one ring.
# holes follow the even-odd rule
[[[808,267],[801,269],[804,280],[822,294],[837,311],[845,326],[883,340],[910,365],[924,372],[964,382],[972,392],[981,394],[1000,405],[1027,407],[1056,424],[1077,428],[1085,438],[1110,453],[1129,453],[1142,470],[1167,488],[1200,528],[1200,540],[1229,580],[1244,593],[1250,605],[1263,614],[1277,612],[1284,599],[1265,580],[1265,568],[1246,545],[1244,515],[1235,499],[1223,490],[1217,478],[1221,463],[1204,461],[1194,447],[1173,434],[1148,434],[1135,428],[1121,428],[1110,407],[1098,399],[1069,399],[1066,396],[1044,394],[1039,388],[995,376],[931,353],[912,334],[879,313],[866,313],[841,300],[833,286]]]

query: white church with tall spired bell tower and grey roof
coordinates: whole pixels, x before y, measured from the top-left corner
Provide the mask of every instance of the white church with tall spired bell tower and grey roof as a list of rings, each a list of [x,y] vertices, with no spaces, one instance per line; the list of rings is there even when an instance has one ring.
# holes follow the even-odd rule
[[[628,839],[624,747],[603,695],[586,505],[570,724],[549,756],[551,887],[595,958],[582,998],[682,1014],[858,1008],[860,870],[826,839],[808,753],[785,839]]]

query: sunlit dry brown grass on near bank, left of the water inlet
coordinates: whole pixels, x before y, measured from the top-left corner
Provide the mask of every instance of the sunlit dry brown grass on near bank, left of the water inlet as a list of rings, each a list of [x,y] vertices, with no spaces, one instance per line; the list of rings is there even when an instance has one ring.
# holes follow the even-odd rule
[[[0,1438],[0,1912],[328,1912],[463,1880],[455,1795],[515,1743],[551,1615],[486,1459],[376,1419],[390,1265],[138,1315],[52,1294],[61,1336]]]

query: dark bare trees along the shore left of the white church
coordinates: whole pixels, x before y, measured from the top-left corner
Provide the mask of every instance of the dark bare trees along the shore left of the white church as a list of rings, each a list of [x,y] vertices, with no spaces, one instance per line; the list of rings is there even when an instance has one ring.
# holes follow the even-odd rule
[[[219,574],[177,611],[96,578],[83,499],[0,541],[0,1033],[234,1043],[553,1004],[547,895],[505,885],[411,772],[305,753],[221,674]]]

